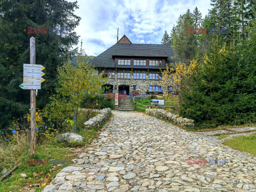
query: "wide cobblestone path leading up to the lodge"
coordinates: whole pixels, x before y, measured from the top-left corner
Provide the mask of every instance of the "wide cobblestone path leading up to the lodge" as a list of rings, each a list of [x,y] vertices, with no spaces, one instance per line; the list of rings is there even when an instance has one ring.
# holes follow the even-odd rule
[[[256,191],[255,157],[142,113],[113,114],[44,192]]]

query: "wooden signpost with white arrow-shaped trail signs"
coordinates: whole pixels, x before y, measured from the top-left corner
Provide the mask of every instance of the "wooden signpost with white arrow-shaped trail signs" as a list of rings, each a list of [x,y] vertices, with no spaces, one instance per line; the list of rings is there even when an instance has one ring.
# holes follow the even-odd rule
[[[21,89],[30,90],[30,117],[31,117],[31,139],[30,155],[36,156],[36,91],[41,89],[42,78],[45,69],[36,64],[36,41],[34,37],[30,38],[30,64],[23,65],[23,83],[19,85]]]

